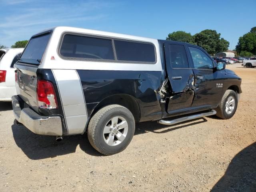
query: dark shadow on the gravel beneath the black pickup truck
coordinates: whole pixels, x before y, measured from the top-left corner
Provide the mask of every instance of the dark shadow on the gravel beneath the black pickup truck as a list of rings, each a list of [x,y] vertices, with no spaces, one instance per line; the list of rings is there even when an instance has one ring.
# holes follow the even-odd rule
[[[186,122],[186,125],[183,123],[176,124],[175,126],[161,125],[157,122],[142,122],[136,124],[135,135],[144,134],[147,132],[154,132],[157,134],[166,133],[206,121],[206,119],[201,118],[196,120],[196,122],[194,120]],[[78,145],[89,155],[102,156],[102,154],[97,152],[90,145],[87,134],[65,136],[62,142],[56,142],[56,137],[54,136],[37,135],[28,130],[26,127],[20,125],[18,126],[16,124],[12,125],[12,133],[17,146],[21,148],[28,158],[32,160],[53,158],[64,154],[74,153],[76,152]]]

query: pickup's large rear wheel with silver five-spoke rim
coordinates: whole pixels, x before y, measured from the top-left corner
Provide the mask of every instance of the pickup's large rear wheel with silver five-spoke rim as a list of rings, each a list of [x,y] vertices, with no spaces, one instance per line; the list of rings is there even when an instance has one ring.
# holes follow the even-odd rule
[[[100,153],[112,155],[123,151],[135,131],[132,113],[120,105],[101,108],[88,124],[90,144]]]

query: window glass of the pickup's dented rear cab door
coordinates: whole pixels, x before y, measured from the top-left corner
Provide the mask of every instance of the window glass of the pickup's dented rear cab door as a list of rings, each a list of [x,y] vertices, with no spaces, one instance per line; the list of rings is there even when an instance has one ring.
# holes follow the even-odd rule
[[[188,58],[183,45],[169,45],[172,68],[189,68]]]

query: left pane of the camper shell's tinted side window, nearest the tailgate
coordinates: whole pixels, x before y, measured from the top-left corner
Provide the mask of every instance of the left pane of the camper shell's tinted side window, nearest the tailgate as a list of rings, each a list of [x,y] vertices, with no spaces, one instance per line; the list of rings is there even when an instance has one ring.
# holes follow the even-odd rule
[[[66,58],[114,60],[111,39],[66,34],[60,47],[60,55]]]

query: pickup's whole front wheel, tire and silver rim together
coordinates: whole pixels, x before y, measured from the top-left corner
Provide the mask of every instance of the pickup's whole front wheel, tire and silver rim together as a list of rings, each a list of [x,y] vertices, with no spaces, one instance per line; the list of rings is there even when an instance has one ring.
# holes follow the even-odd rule
[[[236,112],[238,100],[233,90],[226,90],[219,106],[216,108],[217,116],[222,119],[230,119]]]

